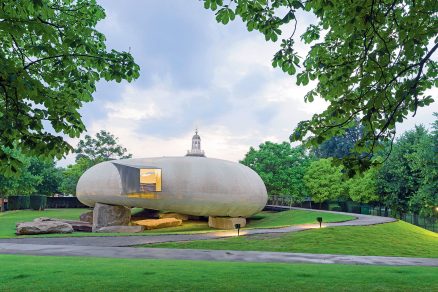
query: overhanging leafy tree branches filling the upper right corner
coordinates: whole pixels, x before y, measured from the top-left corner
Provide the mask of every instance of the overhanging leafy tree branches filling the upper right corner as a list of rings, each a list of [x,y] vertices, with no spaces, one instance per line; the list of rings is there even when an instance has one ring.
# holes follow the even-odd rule
[[[298,124],[291,141],[315,147],[358,120],[364,133],[354,150],[368,155],[343,158],[356,160],[347,163],[354,170],[370,167],[380,142],[394,139],[397,122],[433,102],[425,92],[438,85],[435,0],[204,0],[204,7],[223,24],[240,17],[267,41],[291,31],[272,65],[296,75],[298,85],[317,80],[305,100],[329,102],[324,112]],[[303,60],[294,49],[297,11],[317,18],[301,35],[311,45]]]

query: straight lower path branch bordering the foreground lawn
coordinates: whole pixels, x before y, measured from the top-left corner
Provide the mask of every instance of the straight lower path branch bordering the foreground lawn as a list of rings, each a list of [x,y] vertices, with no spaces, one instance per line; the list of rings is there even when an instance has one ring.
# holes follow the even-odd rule
[[[438,259],[349,256],[286,252],[194,250],[169,248],[97,247],[0,243],[0,253],[42,256],[93,256],[134,259],[176,259],[237,262],[359,264],[438,267]]]

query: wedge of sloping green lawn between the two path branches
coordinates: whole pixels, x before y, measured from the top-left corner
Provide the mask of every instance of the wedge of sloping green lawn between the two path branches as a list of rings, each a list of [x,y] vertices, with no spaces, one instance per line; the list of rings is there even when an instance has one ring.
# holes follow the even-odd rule
[[[438,257],[438,234],[403,221],[286,234],[149,244],[144,247]],[[437,277],[438,278],[438,277]]]

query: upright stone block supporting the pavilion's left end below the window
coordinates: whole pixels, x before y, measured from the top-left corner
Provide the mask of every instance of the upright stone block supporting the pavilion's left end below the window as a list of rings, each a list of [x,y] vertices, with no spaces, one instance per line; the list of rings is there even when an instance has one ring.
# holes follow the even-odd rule
[[[106,226],[129,225],[131,209],[124,206],[113,206],[96,203],[93,210],[93,230]]]

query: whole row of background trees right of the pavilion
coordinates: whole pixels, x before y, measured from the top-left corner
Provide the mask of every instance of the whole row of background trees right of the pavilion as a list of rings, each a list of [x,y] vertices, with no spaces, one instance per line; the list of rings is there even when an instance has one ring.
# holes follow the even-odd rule
[[[250,148],[241,163],[262,177],[270,196],[290,196],[294,202],[307,197],[318,203],[352,200],[399,216],[432,216],[438,206],[438,120],[431,128],[417,126],[405,132],[378,154],[380,165],[355,175],[337,162],[349,155],[360,127],[311,151],[287,142],[265,142],[257,150]]]

